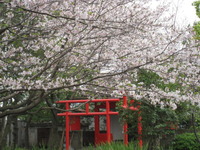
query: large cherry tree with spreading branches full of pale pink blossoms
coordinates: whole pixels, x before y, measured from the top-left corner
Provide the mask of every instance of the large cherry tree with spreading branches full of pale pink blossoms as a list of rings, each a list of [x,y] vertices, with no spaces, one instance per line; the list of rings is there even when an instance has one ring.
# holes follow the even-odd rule
[[[193,32],[175,26],[167,4],[151,2],[0,2],[0,117],[24,113],[58,90],[198,102],[200,56]],[[141,68],[181,88],[136,85]]]

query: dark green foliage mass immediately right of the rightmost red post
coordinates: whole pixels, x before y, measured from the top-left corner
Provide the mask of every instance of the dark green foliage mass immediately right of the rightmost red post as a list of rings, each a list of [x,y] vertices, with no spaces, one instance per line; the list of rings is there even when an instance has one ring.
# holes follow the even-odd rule
[[[148,102],[141,107],[144,133],[147,136],[168,135],[172,125],[177,124],[175,111],[169,107],[161,108],[160,105],[151,105]]]

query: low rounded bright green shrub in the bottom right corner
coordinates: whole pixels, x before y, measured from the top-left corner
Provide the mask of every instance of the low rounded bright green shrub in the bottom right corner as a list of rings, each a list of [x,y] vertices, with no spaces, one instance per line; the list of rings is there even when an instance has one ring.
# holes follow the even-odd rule
[[[194,133],[183,133],[175,136],[173,147],[174,150],[200,150],[200,143]]]

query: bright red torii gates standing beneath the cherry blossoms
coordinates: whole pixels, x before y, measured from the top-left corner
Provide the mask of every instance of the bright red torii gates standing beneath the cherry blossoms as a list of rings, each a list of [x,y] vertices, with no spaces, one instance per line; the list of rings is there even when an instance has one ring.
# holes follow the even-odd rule
[[[69,150],[70,146],[70,116],[95,116],[95,144],[99,144],[101,142],[108,142],[110,143],[112,141],[112,135],[111,135],[111,127],[110,127],[110,115],[118,115],[119,112],[113,112],[110,110],[110,108],[115,107],[116,102],[119,102],[120,99],[94,99],[94,100],[62,100],[57,101],[56,103],[65,103],[66,105],[66,112],[64,113],[58,113],[58,116],[65,116],[66,117],[66,150]],[[104,103],[105,105],[103,107],[106,108],[106,111],[99,112],[99,108],[102,108],[102,105],[96,105],[97,103]],[[133,103],[134,100],[131,100],[131,103]],[[85,112],[70,112],[70,104],[71,103],[85,103]],[[89,110],[90,103],[95,103],[95,112],[91,112]],[[140,104],[137,107],[131,106],[128,107],[127,104],[127,97],[123,96],[123,108],[130,109],[133,111],[137,111],[140,108]],[[141,113],[140,111],[138,112]],[[99,131],[99,115],[105,115],[106,116],[106,134],[102,134]],[[138,134],[139,134],[139,146],[142,147],[142,123],[141,123],[142,117],[138,117]],[[128,124],[124,124],[124,144],[128,145]],[[102,137],[106,137],[106,139],[102,139]]]

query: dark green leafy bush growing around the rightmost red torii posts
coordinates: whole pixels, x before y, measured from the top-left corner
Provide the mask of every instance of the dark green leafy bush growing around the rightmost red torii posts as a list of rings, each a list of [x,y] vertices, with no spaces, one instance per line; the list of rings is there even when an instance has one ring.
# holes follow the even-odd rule
[[[164,100],[163,100],[164,101]],[[167,100],[166,100],[167,101]],[[168,100],[169,101],[169,100]],[[132,140],[138,138],[137,123],[138,116],[142,116],[142,138],[145,143],[149,143],[149,148],[159,149],[160,146],[156,145],[156,140],[168,140],[162,146],[170,146],[170,140],[173,139],[175,130],[178,125],[178,116],[175,110],[170,107],[161,107],[159,104],[153,105],[148,100],[141,100],[141,114],[138,111],[132,111],[129,109],[123,109],[118,104],[119,114],[121,122],[126,121],[129,125],[128,134],[132,137]],[[129,104],[131,106],[132,104]],[[135,102],[134,106],[138,105],[138,101]],[[168,139],[169,138],[169,139]]]

